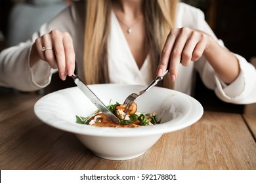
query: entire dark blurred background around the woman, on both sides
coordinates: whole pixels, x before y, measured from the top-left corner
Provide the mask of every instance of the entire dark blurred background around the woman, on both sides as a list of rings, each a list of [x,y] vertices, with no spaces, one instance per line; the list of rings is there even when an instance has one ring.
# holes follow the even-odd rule
[[[14,20],[18,15],[24,15],[24,11],[20,10],[20,5],[24,5],[26,0],[1,0],[0,1],[0,50],[11,46],[17,40],[12,40],[10,37],[11,29],[13,29]],[[224,41],[225,46],[232,52],[240,54],[247,61],[253,60],[256,57],[256,1],[255,0],[182,0],[184,3],[198,7],[205,13],[205,19],[211,26],[217,37]],[[37,21],[33,25],[31,31],[36,31],[39,28],[39,23],[47,22],[51,16],[57,14],[60,10],[70,5],[71,1],[62,0],[29,0],[26,1],[29,5],[28,10],[31,14],[34,13],[33,20]],[[37,6],[35,12],[30,6]],[[55,11],[45,11],[45,8],[54,8]],[[47,12],[47,14],[45,13]],[[51,13],[48,13],[51,12]],[[28,13],[27,13],[28,14]],[[26,14],[24,15],[26,16]],[[32,23],[33,21],[24,20]],[[32,26],[32,25],[31,25]],[[24,25],[19,28],[22,32]],[[16,27],[16,29],[18,29]],[[18,30],[19,30],[18,29]],[[24,34],[23,34],[24,35]],[[24,35],[26,41],[29,37]],[[53,77],[52,84],[43,90],[43,94],[60,90],[62,88],[72,86],[72,82],[62,82],[58,76]],[[0,92],[13,92],[9,88],[0,88]],[[42,93],[42,91],[41,91]],[[244,112],[244,105],[232,105],[219,100],[215,93],[203,86],[199,77],[196,80],[196,89],[194,97],[202,103],[205,110],[217,110],[223,112]]]

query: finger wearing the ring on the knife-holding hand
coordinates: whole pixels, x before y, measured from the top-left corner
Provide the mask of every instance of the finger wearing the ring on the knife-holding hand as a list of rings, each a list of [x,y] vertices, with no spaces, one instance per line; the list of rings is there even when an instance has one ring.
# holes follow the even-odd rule
[[[42,40],[42,47],[44,46],[45,48],[53,48],[51,35],[45,34],[41,38],[42,38],[41,39]],[[44,57],[45,57],[45,61],[47,61],[53,69],[57,69],[58,66],[56,64],[56,59],[55,59],[53,50],[45,50],[45,51],[43,51],[43,54],[44,54]]]

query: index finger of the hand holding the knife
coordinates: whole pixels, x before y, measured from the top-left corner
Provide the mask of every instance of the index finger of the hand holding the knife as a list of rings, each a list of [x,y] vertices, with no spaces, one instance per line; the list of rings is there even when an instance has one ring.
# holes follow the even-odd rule
[[[75,52],[74,52],[72,38],[68,33],[64,34],[63,46],[64,46],[65,58],[66,58],[66,74],[68,76],[72,76],[75,71]]]

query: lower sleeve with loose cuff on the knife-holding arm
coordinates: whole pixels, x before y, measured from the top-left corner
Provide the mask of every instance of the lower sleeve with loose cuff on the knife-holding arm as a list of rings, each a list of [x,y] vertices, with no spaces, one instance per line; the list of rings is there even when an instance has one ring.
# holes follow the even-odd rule
[[[0,54],[0,85],[21,91],[39,90],[51,81],[51,67],[39,61],[29,66],[32,42],[24,42],[3,50]]]

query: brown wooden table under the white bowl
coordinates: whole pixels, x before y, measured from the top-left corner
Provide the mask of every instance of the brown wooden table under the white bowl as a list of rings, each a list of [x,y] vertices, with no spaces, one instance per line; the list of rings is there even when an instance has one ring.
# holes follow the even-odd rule
[[[205,111],[139,158],[110,161],[41,122],[33,113],[40,97],[0,93],[1,169],[256,169],[256,116]]]

